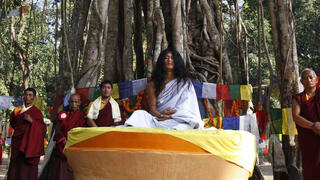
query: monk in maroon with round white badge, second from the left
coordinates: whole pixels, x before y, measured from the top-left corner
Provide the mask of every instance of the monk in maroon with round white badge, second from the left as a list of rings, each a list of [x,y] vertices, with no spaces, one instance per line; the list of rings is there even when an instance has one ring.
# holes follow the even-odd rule
[[[70,111],[63,111],[60,113],[54,135],[56,146],[52,152],[50,161],[41,173],[39,179],[73,179],[73,170],[69,166],[66,156],[63,154],[63,149],[66,145],[66,140],[68,139],[68,131],[70,131],[72,128],[83,127],[85,124],[85,113],[79,109],[80,104],[80,95],[72,94],[69,100]]]

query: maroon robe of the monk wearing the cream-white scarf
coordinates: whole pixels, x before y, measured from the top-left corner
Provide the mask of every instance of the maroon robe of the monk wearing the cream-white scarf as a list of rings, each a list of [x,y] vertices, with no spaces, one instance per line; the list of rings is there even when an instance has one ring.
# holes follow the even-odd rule
[[[108,102],[103,109],[99,111],[98,118],[95,120],[95,123],[98,127],[108,127],[108,126],[117,126],[124,124],[123,121],[115,123],[112,119],[112,109],[111,104]]]

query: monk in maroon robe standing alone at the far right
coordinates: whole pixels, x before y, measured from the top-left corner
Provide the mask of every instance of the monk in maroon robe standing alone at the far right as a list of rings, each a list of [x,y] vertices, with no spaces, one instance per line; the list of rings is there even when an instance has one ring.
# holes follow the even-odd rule
[[[304,70],[301,83],[305,90],[292,100],[305,180],[320,179],[320,89],[316,87],[317,82],[313,70]]]

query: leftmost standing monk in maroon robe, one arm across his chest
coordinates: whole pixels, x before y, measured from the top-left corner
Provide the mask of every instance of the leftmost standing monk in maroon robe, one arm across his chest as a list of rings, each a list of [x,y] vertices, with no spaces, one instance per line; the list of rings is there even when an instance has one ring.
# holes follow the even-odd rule
[[[40,156],[44,155],[46,125],[41,111],[32,105],[36,91],[24,91],[24,105],[16,107],[10,116],[14,129],[8,180],[38,179]]]

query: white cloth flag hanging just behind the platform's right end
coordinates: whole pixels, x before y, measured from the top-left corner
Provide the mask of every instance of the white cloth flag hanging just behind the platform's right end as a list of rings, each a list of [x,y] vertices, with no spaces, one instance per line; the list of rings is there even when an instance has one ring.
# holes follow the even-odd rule
[[[256,136],[256,141],[258,144],[258,141],[260,139],[259,135],[259,129],[257,124],[257,116],[256,113],[254,114],[248,114],[245,116],[240,116],[239,119],[239,130],[244,130],[252,133]]]

